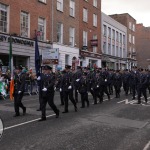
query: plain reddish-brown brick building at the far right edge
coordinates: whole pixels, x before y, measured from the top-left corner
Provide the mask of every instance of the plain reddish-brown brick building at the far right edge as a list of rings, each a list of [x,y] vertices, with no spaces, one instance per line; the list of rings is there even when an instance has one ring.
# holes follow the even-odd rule
[[[150,69],[150,27],[136,24],[137,66]]]

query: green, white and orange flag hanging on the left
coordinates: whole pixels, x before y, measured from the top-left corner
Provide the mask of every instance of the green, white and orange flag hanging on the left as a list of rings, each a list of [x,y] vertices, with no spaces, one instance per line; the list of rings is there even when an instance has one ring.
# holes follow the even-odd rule
[[[10,100],[13,100],[13,93],[14,93],[14,74],[13,74],[13,57],[12,57],[12,38],[9,38],[9,68],[11,73],[11,81],[10,81]]]

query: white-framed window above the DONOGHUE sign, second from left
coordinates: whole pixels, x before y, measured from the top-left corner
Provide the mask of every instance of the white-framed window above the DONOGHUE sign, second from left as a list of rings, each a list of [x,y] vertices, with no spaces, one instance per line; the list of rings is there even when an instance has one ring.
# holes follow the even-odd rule
[[[21,12],[21,36],[29,37],[29,14],[26,12]]]

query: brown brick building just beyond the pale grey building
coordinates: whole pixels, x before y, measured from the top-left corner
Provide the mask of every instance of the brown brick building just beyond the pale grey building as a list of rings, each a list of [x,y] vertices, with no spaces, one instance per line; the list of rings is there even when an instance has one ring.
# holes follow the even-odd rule
[[[136,41],[135,41],[135,34],[136,34],[136,20],[130,16],[128,13],[124,14],[114,14],[110,15],[113,19],[120,22],[124,26],[127,27],[127,64],[128,68],[137,65],[136,60]]]

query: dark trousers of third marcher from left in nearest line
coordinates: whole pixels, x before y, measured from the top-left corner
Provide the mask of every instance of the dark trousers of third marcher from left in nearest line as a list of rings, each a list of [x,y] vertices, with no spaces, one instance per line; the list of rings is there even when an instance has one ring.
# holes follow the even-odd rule
[[[75,99],[73,98],[73,90],[64,91],[64,102],[65,102],[65,111],[68,111],[68,100],[73,103],[75,109],[77,108]]]

